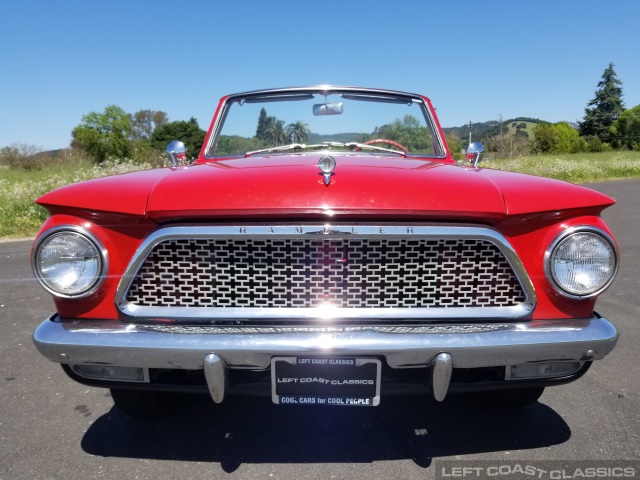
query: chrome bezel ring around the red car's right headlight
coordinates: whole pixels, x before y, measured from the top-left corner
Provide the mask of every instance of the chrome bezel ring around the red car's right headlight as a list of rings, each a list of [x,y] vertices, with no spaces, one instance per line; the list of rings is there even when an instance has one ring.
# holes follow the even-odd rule
[[[584,294],[577,293],[567,288],[566,286],[563,286],[561,281],[559,281],[559,279],[557,278],[555,269],[553,267],[554,254],[556,253],[558,247],[564,244],[564,242],[569,240],[572,236],[577,234],[591,234],[593,236],[599,237],[602,241],[604,241],[610,248],[614,264],[613,268],[611,269],[609,278],[604,283],[599,285],[597,289]],[[613,237],[611,237],[611,235],[609,235],[607,232],[605,232],[601,228],[591,225],[574,226],[565,229],[553,240],[553,242],[551,242],[544,254],[544,271],[551,286],[562,296],[576,300],[589,299],[600,295],[613,283],[618,273],[619,258],[620,253],[618,251],[618,246]]]

